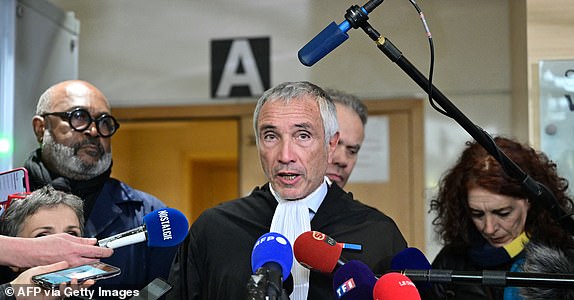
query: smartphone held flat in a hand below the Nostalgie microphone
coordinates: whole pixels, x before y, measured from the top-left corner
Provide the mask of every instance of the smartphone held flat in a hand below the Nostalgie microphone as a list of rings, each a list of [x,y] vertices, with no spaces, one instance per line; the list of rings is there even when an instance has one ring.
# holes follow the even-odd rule
[[[120,268],[103,262],[95,262],[55,272],[32,276],[32,282],[46,289],[58,288],[62,283],[69,283],[72,278],[78,279],[78,283],[88,279],[105,279],[120,274]]]

